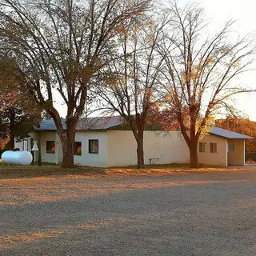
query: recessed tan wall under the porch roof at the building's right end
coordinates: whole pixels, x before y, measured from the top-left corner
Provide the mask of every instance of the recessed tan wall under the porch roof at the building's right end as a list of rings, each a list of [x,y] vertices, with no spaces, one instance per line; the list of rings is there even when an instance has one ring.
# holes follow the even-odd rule
[[[245,141],[244,140],[229,140],[228,142],[235,144],[234,152],[228,152],[228,164],[230,165],[245,165]]]

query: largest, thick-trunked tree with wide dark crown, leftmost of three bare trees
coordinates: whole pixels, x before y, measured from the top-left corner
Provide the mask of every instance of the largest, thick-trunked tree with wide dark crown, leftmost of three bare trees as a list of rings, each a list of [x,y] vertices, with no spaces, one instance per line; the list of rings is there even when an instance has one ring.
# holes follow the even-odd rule
[[[74,165],[74,136],[88,88],[114,54],[117,26],[150,0],[0,0],[0,46],[14,56],[38,106],[54,119],[63,167]],[[111,57],[112,58],[112,57]],[[66,124],[54,102],[66,105]]]

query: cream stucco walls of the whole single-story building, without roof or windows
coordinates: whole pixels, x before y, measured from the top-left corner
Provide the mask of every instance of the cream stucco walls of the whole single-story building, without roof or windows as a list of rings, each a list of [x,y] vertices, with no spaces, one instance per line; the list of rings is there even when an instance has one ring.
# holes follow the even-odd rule
[[[61,163],[62,143],[55,131],[30,133],[34,140],[41,143],[42,162]],[[89,139],[98,139],[98,154],[89,153]],[[55,154],[46,153],[46,141],[55,141]],[[137,164],[137,144],[129,130],[108,130],[99,132],[77,132],[76,142],[82,142],[82,155],[74,155],[74,163],[82,166],[130,166]],[[206,152],[200,153],[198,146],[198,162],[213,166],[227,165],[227,140],[207,135],[201,142],[206,143]],[[210,142],[217,143],[217,153],[210,153]],[[229,163],[244,164],[243,141],[238,141],[237,156],[229,156]],[[15,146],[18,146],[15,145]],[[243,150],[243,151],[242,151]],[[145,131],[144,159],[150,164],[150,158],[159,158],[154,163],[189,163],[190,154],[186,142],[178,131],[170,133]]]

